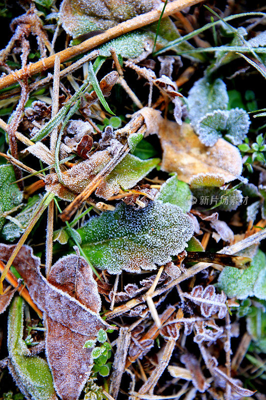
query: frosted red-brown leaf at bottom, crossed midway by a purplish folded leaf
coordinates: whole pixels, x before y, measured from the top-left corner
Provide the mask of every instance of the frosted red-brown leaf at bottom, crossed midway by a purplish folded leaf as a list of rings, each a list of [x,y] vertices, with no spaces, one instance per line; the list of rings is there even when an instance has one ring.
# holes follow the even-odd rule
[[[47,280],[99,314],[101,299],[97,283],[83,257],[71,254],[60,258],[51,267]],[[73,332],[48,316],[45,316],[44,320],[46,356],[56,391],[65,400],[75,400],[79,397],[93,366],[92,348],[83,348],[83,345],[86,340],[94,339],[95,336]]]

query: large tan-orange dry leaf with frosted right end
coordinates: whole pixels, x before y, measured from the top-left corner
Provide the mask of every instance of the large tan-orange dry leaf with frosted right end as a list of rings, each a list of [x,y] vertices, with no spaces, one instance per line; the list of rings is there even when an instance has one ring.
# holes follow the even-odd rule
[[[229,182],[242,172],[239,149],[222,138],[206,148],[191,125],[179,126],[168,120],[161,121],[158,136],[163,148],[162,170],[177,172],[185,182],[202,173],[216,174]]]

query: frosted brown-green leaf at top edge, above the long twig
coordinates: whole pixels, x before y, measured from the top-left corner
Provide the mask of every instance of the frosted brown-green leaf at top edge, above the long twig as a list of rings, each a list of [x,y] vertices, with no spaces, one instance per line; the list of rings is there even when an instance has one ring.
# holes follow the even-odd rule
[[[77,37],[93,30],[105,30],[134,16],[151,11],[156,0],[124,0],[122,3],[102,0],[64,0],[59,17],[65,31]]]

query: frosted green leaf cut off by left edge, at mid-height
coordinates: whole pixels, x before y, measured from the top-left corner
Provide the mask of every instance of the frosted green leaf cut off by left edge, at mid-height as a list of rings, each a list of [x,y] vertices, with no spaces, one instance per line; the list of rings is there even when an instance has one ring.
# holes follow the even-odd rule
[[[22,201],[23,193],[19,190],[15,181],[14,168],[12,165],[0,165],[0,229],[4,224],[3,212],[11,210]]]

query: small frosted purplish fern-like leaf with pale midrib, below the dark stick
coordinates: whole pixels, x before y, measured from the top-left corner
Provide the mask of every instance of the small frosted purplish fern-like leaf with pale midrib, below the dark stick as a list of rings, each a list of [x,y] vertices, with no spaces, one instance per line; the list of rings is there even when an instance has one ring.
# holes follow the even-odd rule
[[[218,318],[224,318],[227,313],[225,293],[217,294],[215,287],[209,284],[205,289],[198,285],[193,287],[191,293],[183,293],[184,297],[189,298],[201,307],[201,313],[206,318],[218,312]]]

